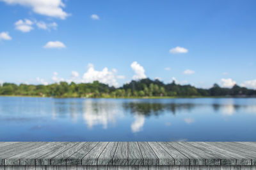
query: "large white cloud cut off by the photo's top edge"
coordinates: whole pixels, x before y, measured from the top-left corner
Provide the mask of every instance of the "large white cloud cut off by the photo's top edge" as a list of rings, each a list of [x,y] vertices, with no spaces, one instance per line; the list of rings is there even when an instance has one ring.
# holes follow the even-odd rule
[[[35,13],[65,19],[68,13],[63,11],[65,4],[61,0],[0,0],[7,4],[19,4],[32,8]]]

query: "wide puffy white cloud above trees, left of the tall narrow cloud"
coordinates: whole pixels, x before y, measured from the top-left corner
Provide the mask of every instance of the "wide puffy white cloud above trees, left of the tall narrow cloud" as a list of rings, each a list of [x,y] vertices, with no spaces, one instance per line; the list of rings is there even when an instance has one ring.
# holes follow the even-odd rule
[[[115,71],[109,71],[107,67],[104,67],[102,71],[97,71],[94,69],[93,64],[88,64],[88,70],[83,75],[84,83],[92,83],[93,81],[100,81],[100,83],[106,83],[118,86],[118,83],[115,78]]]

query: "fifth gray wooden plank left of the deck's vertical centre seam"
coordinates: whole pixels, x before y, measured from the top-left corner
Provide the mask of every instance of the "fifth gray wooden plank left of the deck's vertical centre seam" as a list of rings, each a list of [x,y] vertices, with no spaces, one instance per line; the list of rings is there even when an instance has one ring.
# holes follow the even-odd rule
[[[51,165],[67,165],[67,158],[83,148],[86,144],[87,142],[79,142],[77,145],[74,145],[68,150],[65,150],[65,152],[56,155],[56,157],[52,157]]]

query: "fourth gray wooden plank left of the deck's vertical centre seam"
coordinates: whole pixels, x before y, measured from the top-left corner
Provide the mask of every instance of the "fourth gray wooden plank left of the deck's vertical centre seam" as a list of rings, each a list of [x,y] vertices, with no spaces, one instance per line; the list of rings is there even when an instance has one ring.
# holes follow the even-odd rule
[[[67,165],[82,165],[82,159],[85,157],[99,142],[89,142],[83,148],[67,158]]]

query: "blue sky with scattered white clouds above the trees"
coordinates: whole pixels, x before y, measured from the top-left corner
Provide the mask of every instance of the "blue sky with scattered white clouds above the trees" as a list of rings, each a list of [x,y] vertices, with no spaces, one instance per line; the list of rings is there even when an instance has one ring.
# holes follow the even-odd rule
[[[0,82],[256,89],[256,1],[0,0]]]

